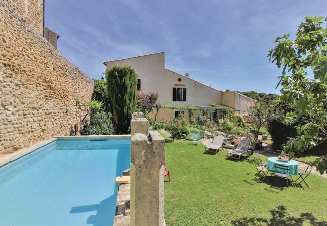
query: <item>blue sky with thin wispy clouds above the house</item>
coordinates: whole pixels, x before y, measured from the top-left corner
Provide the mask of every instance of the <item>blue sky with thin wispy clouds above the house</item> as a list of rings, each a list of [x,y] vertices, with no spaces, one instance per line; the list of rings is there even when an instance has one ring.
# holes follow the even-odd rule
[[[279,93],[270,43],[326,12],[326,0],[46,0],[45,25],[91,78],[105,61],[165,52],[166,68],[216,89]]]

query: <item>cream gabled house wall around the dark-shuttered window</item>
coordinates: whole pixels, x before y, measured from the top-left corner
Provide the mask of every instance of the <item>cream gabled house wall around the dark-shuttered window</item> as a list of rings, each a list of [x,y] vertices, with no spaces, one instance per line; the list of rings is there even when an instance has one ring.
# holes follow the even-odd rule
[[[107,68],[113,65],[133,67],[138,79],[141,79],[141,91],[144,93],[157,92],[159,94],[158,103],[162,105],[187,106],[221,103],[220,91],[165,69],[165,53],[105,62],[105,65]],[[179,82],[178,78],[181,78],[182,81]],[[186,101],[173,101],[173,87],[186,88]]]

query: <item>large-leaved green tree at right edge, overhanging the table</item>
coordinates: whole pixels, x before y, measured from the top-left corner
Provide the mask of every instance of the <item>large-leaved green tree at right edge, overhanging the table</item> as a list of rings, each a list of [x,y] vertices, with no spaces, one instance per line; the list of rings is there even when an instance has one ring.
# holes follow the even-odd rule
[[[290,40],[290,34],[277,37],[268,54],[269,60],[282,68],[277,87],[281,84],[281,98],[293,109],[287,112],[284,123],[299,122],[297,136],[284,146],[291,155],[327,138],[327,28],[323,27],[323,19],[305,17],[295,40]],[[308,74],[310,70],[313,79]],[[327,171],[327,157],[322,156],[314,164],[321,174]]]

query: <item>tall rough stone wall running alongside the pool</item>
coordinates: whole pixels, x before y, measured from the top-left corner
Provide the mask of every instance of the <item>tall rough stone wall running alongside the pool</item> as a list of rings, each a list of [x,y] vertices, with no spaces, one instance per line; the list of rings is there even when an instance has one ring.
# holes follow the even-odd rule
[[[94,82],[6,0],[0,0],[0,157],[52,135],[69,135]]]

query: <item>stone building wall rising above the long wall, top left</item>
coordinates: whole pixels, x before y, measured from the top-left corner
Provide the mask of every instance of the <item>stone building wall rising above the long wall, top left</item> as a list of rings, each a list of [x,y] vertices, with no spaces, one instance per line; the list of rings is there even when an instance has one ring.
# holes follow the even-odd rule
[[[43,35],[44,0],[8,0],[8,3],[20,13],[23,19]]]

